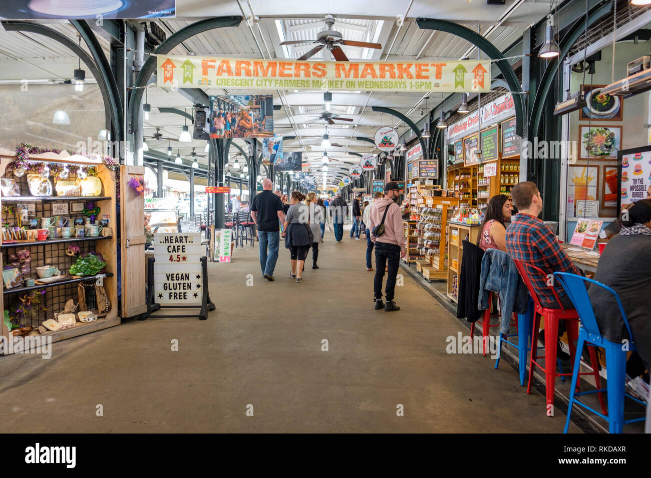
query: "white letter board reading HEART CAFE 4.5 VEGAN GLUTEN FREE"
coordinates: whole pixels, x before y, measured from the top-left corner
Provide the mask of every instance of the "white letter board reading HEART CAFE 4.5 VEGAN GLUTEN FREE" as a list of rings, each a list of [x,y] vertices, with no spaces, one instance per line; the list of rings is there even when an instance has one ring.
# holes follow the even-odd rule
[[[154,236],[154,300],[201,304],[201,233],[158,233]]]

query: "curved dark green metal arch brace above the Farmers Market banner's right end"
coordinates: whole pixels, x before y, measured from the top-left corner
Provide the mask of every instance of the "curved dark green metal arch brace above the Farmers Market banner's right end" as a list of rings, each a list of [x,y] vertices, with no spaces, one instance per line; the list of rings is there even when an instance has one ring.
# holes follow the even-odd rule
[[[524,95],[522,94],[522,87],[516,76],[516,72],[513,71],[510,63],[505,60],[502,53],[493,45],[491,42],[486,40],[483,36],[477,32],[454,23],[454,21],[449,20],[437,20],[435,18],[417,18],[416,23],[419,28],[444,31],[446,33],[451,33],[456,36],[460,36],[464,40],[470,42],[471,44],[477,46],[482,50],[488,57],[492,60],[497,60],[495,63],[499,71],[502,72],[506,83],[508,83],[508,89],[514,93],[513,101],[516,107],[516,134],[519,137],[525,137],[525,100]],[[425,149],[423,148],[423,151]]]

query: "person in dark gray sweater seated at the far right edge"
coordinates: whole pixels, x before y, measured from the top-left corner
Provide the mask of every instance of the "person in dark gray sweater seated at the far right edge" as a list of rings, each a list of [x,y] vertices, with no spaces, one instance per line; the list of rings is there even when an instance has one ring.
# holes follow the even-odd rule
[[[637,201],[624,212],[622,231],[603,249],[594,280],[619,295],[637,353],[651,370],[651,199]],[[629,339],[613,295],[596,285],[588,295],[602,335],[613,342]]]

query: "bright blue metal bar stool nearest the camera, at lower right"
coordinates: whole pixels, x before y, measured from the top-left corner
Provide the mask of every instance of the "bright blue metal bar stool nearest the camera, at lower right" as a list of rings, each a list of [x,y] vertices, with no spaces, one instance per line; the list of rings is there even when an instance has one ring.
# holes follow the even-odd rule
[[[636,401],[640,405],[646,406],[646,403],[631,397],[626,390],[626,352],[622,350],[622,343],[611,342],[602,337],[601,332],[599,331],[599,325],[594,317],[594,310],[592,310],[592,304],[590,304],[590,297],[588,291],[585,288],[585,283],[589,282],[591,287],[603,287],[611,294],[617,301],[619,310],[622,313],[622,319],[624,319],[624,325],[626,325],[626,331],[628,332],[629,343],[628,351],[635,351],[635,343],[633,342],[633,334],[631,334],[631,327],[628,325],[628,319],[626,318],[626,312],[624,312],[624,307],[622,306],[622,301],[619,299],[617,293],[601,282],[596,280],[589,279],[583,276],[577,276],[576,274],[569,274],[568,272],[554,272],[561,282],[561,285],[564,287],[568,297],[572,300],[574,307],[576,308],[577,313],[579,314],[579,320],[581,321],[581,328],[579,328],[579,341],[577,343],[576,358],[574,360],[574,372],[572,373],[572,386],[570,387],[570,406],[568,407],[568,419],[565,423],[564,433],[568,432],[570,427],[570,417],[572,416],[572,406],[576,403],[577,405],[587,408],[590,412],[600,416],[608,422],[608,429],[611,433],[622,433],[624,431],[624,425],[628,423],[634,423],[636,421],[644,421],[646,417],[635,418],[631,420],[624,420],[624,397],[629,397],[631,400]],[[602,347],[605,350],[606,354],[606,369],[608,371],[608,379],[606,388],[600,390],[594,390],[592,392],[581,392],[575,393],[575,387],[577,382],[577,377],[579,374],[579,365],[581,364],[581,352],[583,350],[583,345],[587,344],[589,347]],[[579,395],[587,395],[588,393],[598,393],[598,392],[607,392],[608,396],[608,415],[600,414],[596,410],[590,408],[590,406],[579,401],[576,397]]]

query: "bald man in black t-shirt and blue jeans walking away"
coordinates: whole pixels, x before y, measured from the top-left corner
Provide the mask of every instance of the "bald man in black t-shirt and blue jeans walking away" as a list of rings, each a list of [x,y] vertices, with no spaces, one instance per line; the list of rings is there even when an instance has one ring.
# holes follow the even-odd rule
[[[262,193],[256,194],[251,203],[251,219],[258,227],[258,242],[260,243],[260,268],[262,276],[267,280],[273,279],[273,269],[278,260],[278,245],[280,243],[279,222],[284,222],[283,203],[278,196],[271,193],[271,179],[262,179]],[[269,248],[269,253],[267,253]]]

